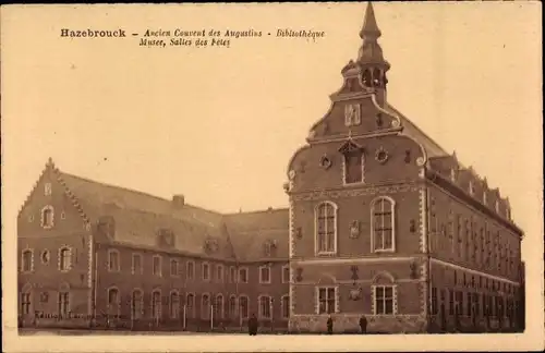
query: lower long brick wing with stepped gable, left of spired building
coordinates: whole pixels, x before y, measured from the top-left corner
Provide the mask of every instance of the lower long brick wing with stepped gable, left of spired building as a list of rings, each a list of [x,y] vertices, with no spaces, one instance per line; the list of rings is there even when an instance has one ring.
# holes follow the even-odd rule
[[[287,209],[219,215],[49,161],[19,216],[21,325],[287,328],[288,234]]]

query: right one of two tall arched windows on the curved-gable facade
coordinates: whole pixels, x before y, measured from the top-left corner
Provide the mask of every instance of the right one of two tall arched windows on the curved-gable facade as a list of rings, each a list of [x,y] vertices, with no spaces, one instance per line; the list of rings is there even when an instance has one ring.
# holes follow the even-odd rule
[[[395,203],[389,197],[378,197],[371,206],[372,246],[374,252],[393,252]]]

